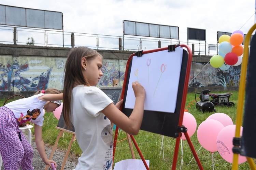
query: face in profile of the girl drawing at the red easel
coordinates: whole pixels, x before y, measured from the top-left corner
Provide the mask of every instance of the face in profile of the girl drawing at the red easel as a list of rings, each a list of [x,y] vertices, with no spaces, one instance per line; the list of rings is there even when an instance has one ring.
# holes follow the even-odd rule
[[[90,62],[87,62],[85,77],[91,85],[96,86],[100,78],[102,77],[103,73],[101,71],[101,68],[102,60],[100,56],[97,56]]]

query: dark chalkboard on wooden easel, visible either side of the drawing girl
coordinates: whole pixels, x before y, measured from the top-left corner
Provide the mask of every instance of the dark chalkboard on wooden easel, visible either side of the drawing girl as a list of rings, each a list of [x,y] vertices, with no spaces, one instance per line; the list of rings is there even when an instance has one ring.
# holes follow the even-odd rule
[[[114,102],[114,104],[116,104],[118,102],[118,100],[120,98],[121,91],[122,91],[122,86],[101,87],[100,89]],[[71,128],[67,128],[62,113],[60,115],[57,127],[69,130],[71,132],[75,132],[75,128],[74,128],[73,124],[72,124]]]

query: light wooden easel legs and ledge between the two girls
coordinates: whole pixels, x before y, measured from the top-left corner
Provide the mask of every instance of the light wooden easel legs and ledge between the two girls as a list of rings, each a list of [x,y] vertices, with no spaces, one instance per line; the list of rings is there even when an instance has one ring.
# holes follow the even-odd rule
[[[55,128],[59,130],[59,134],[58,134],[58,137],[57,137],[57,139],[56,139],[56,141],[55,141],[55,144],[54,144],[54,146],[53,146],[53,150],[52,150],[52,153],[51,153],[51,155],[50,155],[50,157],[49,157],[49,160],[51,160],[51,159],[53,158],[53,154],[54,154],[55,149],[56,149],[56,147],[57,147],[59,138],[63,135],[63,133],[64,133],[64,132],[67,132],[67,133],[71,133],[71,134],[72,134],[71,140],[70,140],[70,142],[69,142],[69,147],[68,147],[68,149],[67,149],[66,155],[65,155],[65,157],[64,157],[64,160],[63,160],[63,163],[62,163],[62,166],[61,166],[61,170],[63,170],[64,167],[65,167],[66,161],[67,161],[67,159],[68,159],[68,155],[69,155],[69,151],[70,151],[70,149],[71,149],[72,143],[75,141],[75,132],[72,132],[72,131],[69,131],[69,130],[66,130],[66,129],[63,129],[63,128],[59,128],[59,127],[57,127],[57,126],[56,126]],[[45,170],[48,170],[48,167],[49,167],[49,166],[46,165]]]

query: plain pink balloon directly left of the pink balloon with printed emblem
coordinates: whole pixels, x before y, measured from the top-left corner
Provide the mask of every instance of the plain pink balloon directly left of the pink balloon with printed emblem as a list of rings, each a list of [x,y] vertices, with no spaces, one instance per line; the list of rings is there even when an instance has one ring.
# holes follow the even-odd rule
[[[203,121],[197,129],[197,139],[200,145],[211,153],[217,151],[216,139],[224,125],[214,119]]]

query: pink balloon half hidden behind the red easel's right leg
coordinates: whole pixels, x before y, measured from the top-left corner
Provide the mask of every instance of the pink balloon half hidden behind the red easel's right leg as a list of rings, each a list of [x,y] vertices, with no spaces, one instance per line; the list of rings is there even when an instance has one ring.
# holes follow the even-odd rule
[[[197,129],[197,121],[195,117],[188,112],[184,112],[182,124],[187,128],[188,136],[193,136]],[[184,133],[182,133],[181,139],[186,140]]]

